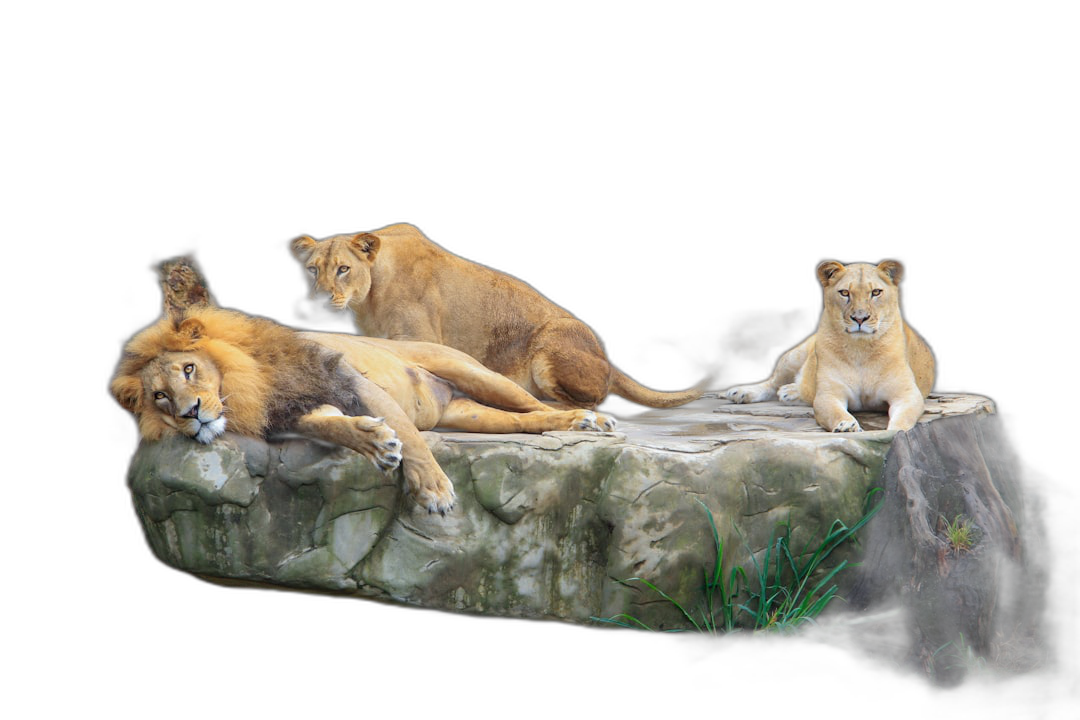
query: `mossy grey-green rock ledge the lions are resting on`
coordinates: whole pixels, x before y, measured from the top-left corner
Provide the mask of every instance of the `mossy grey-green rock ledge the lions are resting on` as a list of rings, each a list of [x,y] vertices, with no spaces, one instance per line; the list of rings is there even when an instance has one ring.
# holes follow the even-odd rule
[[[993,412],[985,398],[942,395],[923,422]],[[885,420],[860,416],[867,429]],[[629,613],[659,627],[685,623],[620,581],[692,607],[715,557],[702,505],[728,569],[750,570],[783,524],[792,547],[815,546],[862,515],[892,436],[706,397],[622,418],[615,433],[424,438],[458,495],[445,517],[403,493],[401,471],[300,439],[141,444],[127,487],[154,556],[210,582],[579,624]],[[850,579],[838,580],[843,592]]]

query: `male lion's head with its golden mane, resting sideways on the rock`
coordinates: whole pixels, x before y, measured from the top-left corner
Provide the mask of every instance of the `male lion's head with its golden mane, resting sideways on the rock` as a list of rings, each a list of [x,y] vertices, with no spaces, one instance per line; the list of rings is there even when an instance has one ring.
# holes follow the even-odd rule
[[[247,352],[222,338],[222,329],[240,322],[220,310],[183,322],[162,318],[126,343],[109,393],[135,416],[139,437],[180,434],[210,443],[227,425],[241,434],[262,432],[266,373]],[[212,334],[207,326],[218,331]]]

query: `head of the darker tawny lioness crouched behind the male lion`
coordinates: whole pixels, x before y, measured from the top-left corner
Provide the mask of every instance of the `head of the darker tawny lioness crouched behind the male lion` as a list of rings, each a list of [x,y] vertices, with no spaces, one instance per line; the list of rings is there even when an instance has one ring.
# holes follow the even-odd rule
[[[343,312],[350,301],[364,300],[372,289],[377,235],[363,232],[320,241],[300,235],[288,241],[288,249],[307,271],[309,299],[330,312]]]

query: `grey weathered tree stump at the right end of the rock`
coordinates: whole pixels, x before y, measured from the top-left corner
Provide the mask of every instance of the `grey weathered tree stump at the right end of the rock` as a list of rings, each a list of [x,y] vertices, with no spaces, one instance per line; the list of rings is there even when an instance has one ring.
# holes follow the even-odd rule
[[[1023,467],[1000,416],[957,416],[899,433],[882,481],[886,504],[846,613],[899,610],[863,629],[863,650],[955,687],[995,639],[1036,623],[1044,581],[1025,538]],[[949,538],[963,522],[970,544]]]

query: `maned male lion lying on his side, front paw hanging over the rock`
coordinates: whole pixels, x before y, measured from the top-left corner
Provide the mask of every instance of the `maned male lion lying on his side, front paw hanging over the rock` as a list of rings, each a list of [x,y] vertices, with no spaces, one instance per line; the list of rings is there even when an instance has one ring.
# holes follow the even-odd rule
[[[218,308],[208,295],[186,304],[189,296],[163,280],[162,316],[125,344],[109,383],[141,439],[180,434],[211,443],[229,430],[343,445],[381,468],[401,464],[416,501],[445,514],[454,486],[420,430],[615,426],[591,410],[553,410],[451,348],[301,332]],[[177,295],[185,297],[179,304]]]

